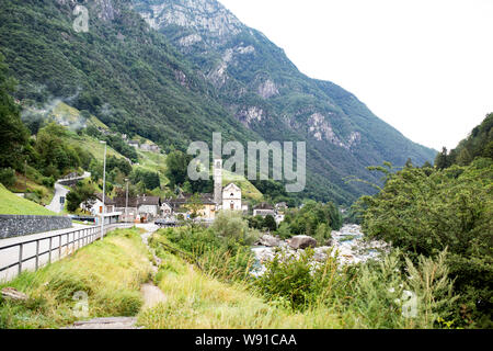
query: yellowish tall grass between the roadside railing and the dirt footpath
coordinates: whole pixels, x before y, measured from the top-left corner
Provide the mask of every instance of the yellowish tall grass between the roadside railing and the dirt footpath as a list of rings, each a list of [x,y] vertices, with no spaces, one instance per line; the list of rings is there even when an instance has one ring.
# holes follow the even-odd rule
[[[134,316],[142,306],[140,285],[149,279],[149,253],[140,231],[115,230],[73,257],[0,284],[30,296],[26,303],[0,301],[0,329],[68,326],[79,319],[78,292],[87,294],[89,303],[89,315],[80,319]]]

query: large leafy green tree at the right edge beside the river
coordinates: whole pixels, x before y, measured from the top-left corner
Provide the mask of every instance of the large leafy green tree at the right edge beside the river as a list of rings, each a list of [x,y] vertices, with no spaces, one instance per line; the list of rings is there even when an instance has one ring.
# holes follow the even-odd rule
[[[492,327],[493,160],[445,170],[404,168],[382,191],[360,200],[370,239],[392,242],[414,263],[448,249],[447,265],[460,295],[456,318]]]

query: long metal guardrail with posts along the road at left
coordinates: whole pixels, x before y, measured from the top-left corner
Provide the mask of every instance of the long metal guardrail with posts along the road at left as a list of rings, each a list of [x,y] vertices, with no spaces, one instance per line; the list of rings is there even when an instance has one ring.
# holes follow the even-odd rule
[[[107,225],[104,234],[117,228],[130,227],[133,225],[129,224]],[[24,270],[37,271],[41,267],[73,254],[77,250],[101,238],[100,226],[57,231],[54,235],[31,240],[20,237],[20,241],[4,246],[1,246],[0,241],[0,281],[11,280]]]

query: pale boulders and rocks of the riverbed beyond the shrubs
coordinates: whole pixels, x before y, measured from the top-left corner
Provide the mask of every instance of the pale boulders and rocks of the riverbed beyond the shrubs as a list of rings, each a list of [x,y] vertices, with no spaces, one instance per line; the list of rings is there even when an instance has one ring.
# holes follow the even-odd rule
[[[265,263],[273,260],[276,254],[285,257],[299,257],[308,247],[313,248],[313,263],[323,262],[328,254],[332,257],[339,252],[340,264],[354,264],[377,259],[382,251],[389,250],[389,245],[383,241],[367,241],[364,239],[362,227],[348,224],[341,230],[332,231],[332,239],[328,246],[317,247],[317,240],[308,236],[297,236],[282,240],[272,235],[264,235],[252,250],[257,259],[257,265],[253,274],[259,276],[265,272]]]

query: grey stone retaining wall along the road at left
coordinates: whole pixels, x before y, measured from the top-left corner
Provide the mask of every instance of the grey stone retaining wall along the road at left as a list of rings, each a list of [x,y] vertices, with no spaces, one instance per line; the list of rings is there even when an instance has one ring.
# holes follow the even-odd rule
[[[0,215],[0,239],[66,229],[71,226],[70,217]]]

